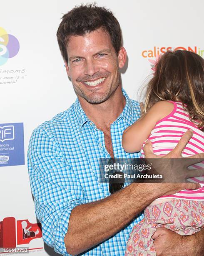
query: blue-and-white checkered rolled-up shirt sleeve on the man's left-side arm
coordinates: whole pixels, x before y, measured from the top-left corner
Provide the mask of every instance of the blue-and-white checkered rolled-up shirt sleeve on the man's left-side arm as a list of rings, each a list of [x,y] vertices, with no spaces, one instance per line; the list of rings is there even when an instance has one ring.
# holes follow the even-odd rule
[[[42,224],[43,241],[57,253],[69,255],[64,237],[70,213],[84,202],[83,189],[52,133],[36,129],[27,155],[35,213]]]

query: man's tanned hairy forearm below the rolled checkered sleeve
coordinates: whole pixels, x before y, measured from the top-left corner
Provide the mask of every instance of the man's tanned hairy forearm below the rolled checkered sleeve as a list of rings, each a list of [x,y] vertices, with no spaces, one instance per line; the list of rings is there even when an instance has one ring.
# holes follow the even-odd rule
[[[76,206],[65,236],[67,252],[79,254],[106,240],[160,195],[158,184],[131,184],[110,197]]]

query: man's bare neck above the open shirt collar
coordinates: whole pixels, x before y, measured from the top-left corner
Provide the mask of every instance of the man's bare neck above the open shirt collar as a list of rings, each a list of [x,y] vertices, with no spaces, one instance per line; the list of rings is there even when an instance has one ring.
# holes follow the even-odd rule
[[[116,91],[108,100],[100,104],[90,104],[81,98],[79,98],[79,100],[87,117],[95,123],[100,130],[110,127],[122,113],[126,104],[121,85],[117,87]]]

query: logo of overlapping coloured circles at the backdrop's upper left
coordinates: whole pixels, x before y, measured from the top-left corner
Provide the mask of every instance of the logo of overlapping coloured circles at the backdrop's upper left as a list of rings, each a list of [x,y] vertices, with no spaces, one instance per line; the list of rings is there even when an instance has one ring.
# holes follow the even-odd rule
[[[19,49],[20,45],[17,38],[0,27],[0,66],[5,64],[8,59],[16,56]]]

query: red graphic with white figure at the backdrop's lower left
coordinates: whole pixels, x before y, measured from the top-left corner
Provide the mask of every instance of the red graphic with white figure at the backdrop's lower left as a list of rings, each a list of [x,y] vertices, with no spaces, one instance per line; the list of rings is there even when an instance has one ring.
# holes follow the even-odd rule
[[[30,223],[28,220],[17,220],[17,244],[27,244],[35,238],[42,237],[40,223]],[[0,221],[0,248],[16,247],[16,220],[14,217]]]

